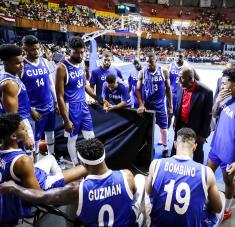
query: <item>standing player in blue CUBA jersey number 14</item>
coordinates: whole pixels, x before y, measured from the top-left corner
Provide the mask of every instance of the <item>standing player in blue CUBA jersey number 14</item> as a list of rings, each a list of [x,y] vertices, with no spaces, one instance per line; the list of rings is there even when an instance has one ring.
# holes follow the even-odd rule
[[[24,36],[23,49],[26,54],[22,81],[27,89],[32,118],[35,121],[35,146],[39,153],[39,141],[45,133],[50,154],[54,153],[55,107],[57,99],[55,85],[49,71],[49,62],[40,57],[40,44],[33,35]]]

